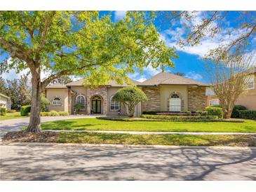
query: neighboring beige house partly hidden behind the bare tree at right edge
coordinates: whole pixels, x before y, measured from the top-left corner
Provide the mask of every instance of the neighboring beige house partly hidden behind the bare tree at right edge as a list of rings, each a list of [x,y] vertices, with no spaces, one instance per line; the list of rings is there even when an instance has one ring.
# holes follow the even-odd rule
[[[256,67],[248,74],[248,85],[245,92],[238,97],[236,104],[241,104],[249,110],[256,110]],[[206,106],[218,105],[220,100],[211,88],[206,89]]]

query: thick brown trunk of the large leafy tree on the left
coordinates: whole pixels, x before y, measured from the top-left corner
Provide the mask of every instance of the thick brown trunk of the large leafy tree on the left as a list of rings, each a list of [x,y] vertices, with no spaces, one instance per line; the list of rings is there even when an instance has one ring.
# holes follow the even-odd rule
[[[32,71],[32,106],[30,111],[28,132],[41,132],[41,77],[40,68]]]

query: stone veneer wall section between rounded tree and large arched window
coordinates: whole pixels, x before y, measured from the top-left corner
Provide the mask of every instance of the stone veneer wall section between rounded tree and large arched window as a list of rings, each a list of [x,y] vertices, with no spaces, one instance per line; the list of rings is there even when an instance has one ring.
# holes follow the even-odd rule
[[[159,87],[143,87],[142,91],[147,95],[147,102],[142,102],[142,111],[160,111]]]

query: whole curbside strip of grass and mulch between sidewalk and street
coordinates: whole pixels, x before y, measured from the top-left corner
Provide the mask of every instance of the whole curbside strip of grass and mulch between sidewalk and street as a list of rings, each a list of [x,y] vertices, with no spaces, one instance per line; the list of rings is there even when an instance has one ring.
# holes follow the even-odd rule
[[[93,132],[8,132],[4,141],[182,146],[256,146],[256,135],[131,135]]]

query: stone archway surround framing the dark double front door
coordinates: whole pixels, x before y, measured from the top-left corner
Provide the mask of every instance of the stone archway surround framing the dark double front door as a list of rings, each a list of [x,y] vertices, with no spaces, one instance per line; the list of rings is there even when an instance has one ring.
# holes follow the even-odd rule
[[[107,114],[107,88],[106,87],[100,87],[100,88],[88,88],[88,93],[87,93],[87,113],[90,114],[90,109],[91,109],[91,97],[94,95],[99,95],[102,97],[102,114],[106,115]]]

